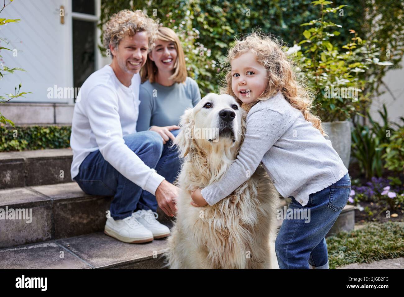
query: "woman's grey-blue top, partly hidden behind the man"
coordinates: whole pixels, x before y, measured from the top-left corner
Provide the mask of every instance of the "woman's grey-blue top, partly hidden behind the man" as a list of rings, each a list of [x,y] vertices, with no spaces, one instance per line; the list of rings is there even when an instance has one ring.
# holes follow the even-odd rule
[[[185,79],[185,84],[175,83],[172,86],[145,81],[140,85],[136,131],[147,130],[153,125],[178,125],[185,109],[194,107],[200,98],[198,84],[191,77]]]

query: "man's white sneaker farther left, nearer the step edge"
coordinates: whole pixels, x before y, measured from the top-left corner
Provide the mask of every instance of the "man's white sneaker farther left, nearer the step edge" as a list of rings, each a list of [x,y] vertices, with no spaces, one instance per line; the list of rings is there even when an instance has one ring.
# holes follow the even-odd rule
[[[153,241],[153,233],[139,223],[133,215],[122,220],[107,218],[104,233],[124,243],[147,243]]]

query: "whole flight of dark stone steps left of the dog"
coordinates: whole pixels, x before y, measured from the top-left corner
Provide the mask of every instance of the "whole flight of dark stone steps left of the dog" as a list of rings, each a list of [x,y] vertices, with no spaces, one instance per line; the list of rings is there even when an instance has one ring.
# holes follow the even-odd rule
[[[70,149],[0,153],[0,209],[27,209],[24,220],[0,219],[0,268],[162,268],[166,239],[135,245],[103,233],[112,197],[84,193],[71,162]]]

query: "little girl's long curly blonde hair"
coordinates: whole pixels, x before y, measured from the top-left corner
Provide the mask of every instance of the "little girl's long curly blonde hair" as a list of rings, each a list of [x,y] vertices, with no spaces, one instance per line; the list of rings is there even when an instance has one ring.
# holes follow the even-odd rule
[[[245,52],[253,52],[257,61],[267,69],[268,84],[264,92],[257,100],[249,104],[243,104],[234,94],[231,88],[231,67],[232,59],[237,58]],[[260,30],[254,30],[252,33],[242,38],[236,38],[233,47],[229,48],[226,57],[227,67],[225,71],[225,84],[221,92],[230,94],[242,107],[248,112],[252,106],[259,100],[268,100],[278,92],[282,92],[285,99],[292,107],[295,107],[305,117],[306,121],[313,123],[313,126],[320,130],[322,135],[326,135],[321,120],[318,116],[311,113],[314,95],[307,88],[304,82],[298,82],[293,71],[294,63],[286,56],[282,50],[282,42],[270,34],[263,34]]]

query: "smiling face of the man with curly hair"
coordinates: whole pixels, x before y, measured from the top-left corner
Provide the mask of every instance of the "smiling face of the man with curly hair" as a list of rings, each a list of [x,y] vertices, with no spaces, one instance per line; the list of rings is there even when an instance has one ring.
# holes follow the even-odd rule
[[[118,48],[112,48],[113,59],[116,59],[122,71],[135,74],[145,65],[149,49],[147,31],[138,31],[133,36],[125,35],[119,42]]]

